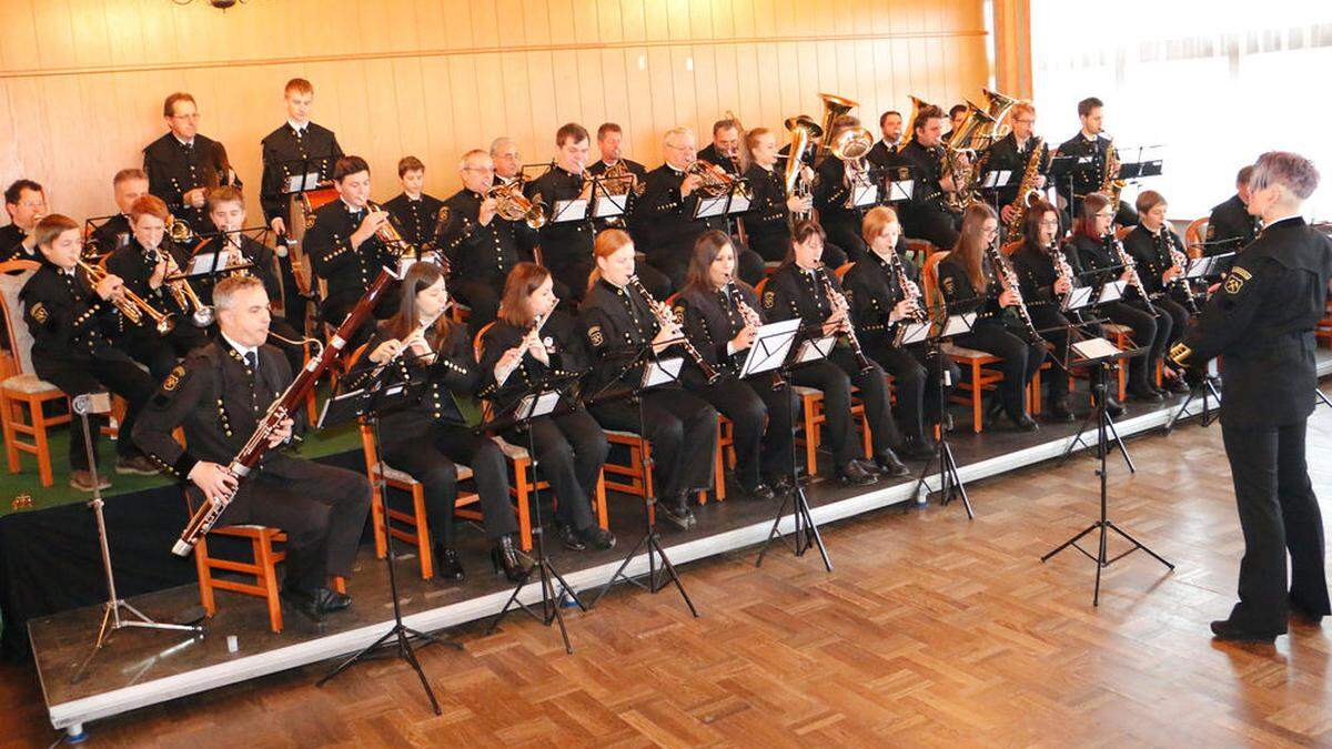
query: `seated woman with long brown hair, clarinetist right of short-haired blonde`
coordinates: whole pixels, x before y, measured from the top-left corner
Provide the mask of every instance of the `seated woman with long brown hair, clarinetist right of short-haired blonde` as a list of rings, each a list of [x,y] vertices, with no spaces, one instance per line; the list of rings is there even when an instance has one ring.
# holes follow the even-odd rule
[[[999,217],[988,205],[975,203],[962,219],[958,244],[939,263],[939,291],[950,313],[976,312],[970,333],[954,337],[959,347],[983,351],[1003,361],[1003,381],[990,401],[990,414],[1002,412],[1019,432],[1039,426],[1027,413],[1027,385],[1046,361],[1046,344],[1032,339],[1016,307],[1019,289],[1010,289],[994,268],[987,247],[999,241]]]

